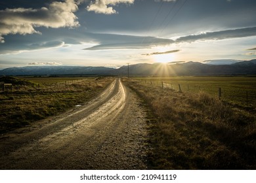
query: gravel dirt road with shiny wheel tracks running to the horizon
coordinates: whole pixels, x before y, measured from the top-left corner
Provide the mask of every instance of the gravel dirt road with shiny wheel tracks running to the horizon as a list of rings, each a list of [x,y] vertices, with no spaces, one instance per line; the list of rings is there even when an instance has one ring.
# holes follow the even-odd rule
[[[89,103],[0,137],[0,169],[146,169],[144,117],[117,78]]]

